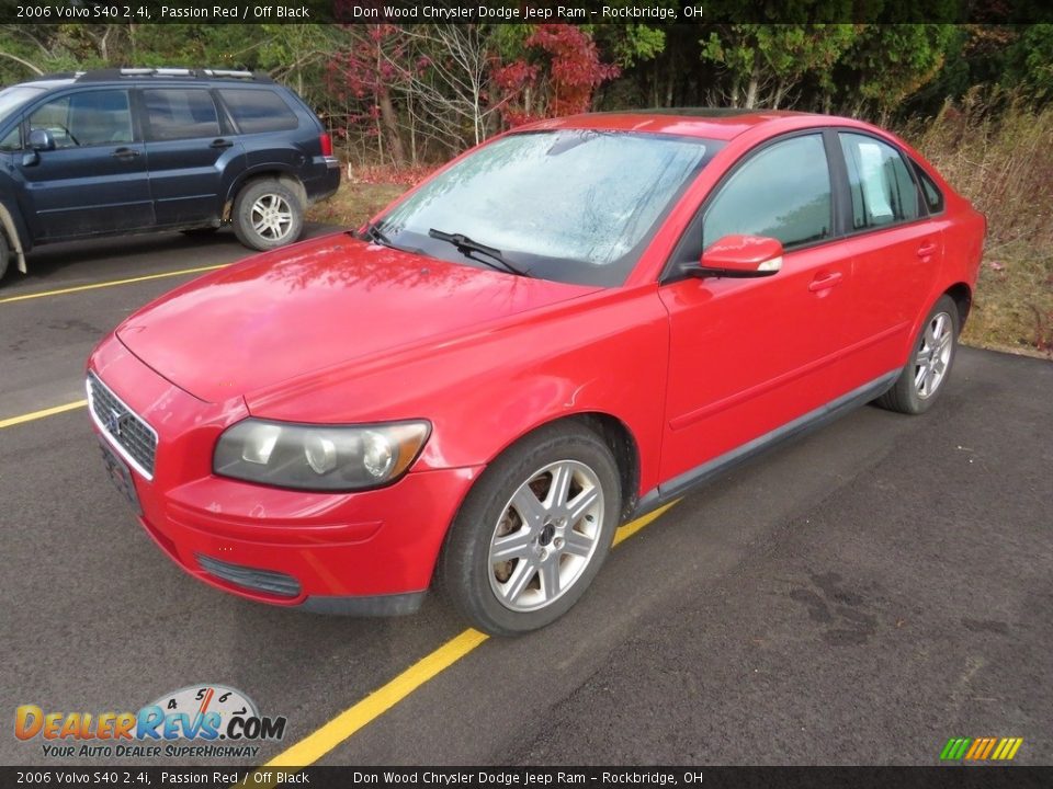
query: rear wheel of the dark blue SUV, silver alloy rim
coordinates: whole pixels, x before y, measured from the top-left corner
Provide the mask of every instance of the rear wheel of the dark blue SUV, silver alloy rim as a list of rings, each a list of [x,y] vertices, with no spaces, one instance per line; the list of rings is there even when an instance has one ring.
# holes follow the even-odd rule
[[[278,249],[304,231],[304,205],[299,195],[281,181],[250,181],[234,201],[234,232],[249,249]]]

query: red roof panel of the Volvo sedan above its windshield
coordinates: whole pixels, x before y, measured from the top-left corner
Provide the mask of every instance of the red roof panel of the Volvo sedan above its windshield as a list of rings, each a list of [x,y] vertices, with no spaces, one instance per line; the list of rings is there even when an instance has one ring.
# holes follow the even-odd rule
[[[808,122],[812,123],[808,123]],[[804,123],[802,123],[804,122]],[[786,110],[738,110],[715,107],[673,107],[586,113],[540,121],[520,127],[526,130],[585,128],[609,132],[644,132],[731,140],[752,128],[770,126],[772,133],[802,126],[854,126],[867,124],[852,118],[800,113]]]

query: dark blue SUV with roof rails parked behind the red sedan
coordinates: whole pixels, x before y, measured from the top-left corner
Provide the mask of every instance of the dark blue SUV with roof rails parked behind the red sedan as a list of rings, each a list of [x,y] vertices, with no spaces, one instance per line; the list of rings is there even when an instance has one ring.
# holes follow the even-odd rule
[[[52,241],[231,225],[295,241],[340,183],[321,123],[247,71],[111,69],[0,91],[0,277]]]

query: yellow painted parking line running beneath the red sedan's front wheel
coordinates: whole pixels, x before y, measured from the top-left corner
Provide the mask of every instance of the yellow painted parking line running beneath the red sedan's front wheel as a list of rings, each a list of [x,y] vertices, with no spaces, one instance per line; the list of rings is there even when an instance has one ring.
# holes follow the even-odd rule
[[[680,501],[680,499],[677,499],[643,517],[625,524],[614,533],[613,545],[616,546],[619,542],[632,537],[647,524],[654,523],[670,507],[679,504]],[[278,754],[278,756],[260,769],[307,767],[314,764],[348,740],[356,731],[380,718],[429,679],[434,678],[438,674],[452,666],[488,638],[489,636],[480,633],[478,630],[465,630],[460,636],[446,641],[446,643],[431,654],[421,658],[382,688],[366,696],[353,707],[349,707],[314,733],[308,734],[299,742]],[[270,774],[264,773],[260,775],[259,779],[256,780],[252,786],[265,787],[272,786],[273,782],[275,782],[274,780],[269,782],[269,778],[264,776],[269,777]],[[250,774],[250,777],[254,777],[253,774]],[[236,784],[234,786],[240,785]]]

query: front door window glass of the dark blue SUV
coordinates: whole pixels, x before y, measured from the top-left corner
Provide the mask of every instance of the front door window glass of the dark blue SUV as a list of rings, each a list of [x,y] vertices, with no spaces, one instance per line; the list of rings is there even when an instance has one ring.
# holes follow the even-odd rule
[[[132,141],[128,92],[83,91],[55,99],[30,115],[30,129],[47,129],[56,148]]]

